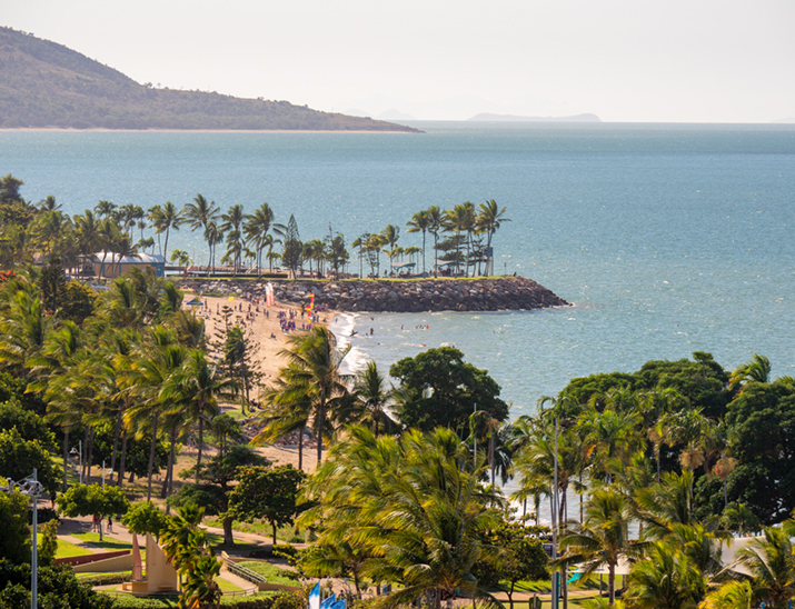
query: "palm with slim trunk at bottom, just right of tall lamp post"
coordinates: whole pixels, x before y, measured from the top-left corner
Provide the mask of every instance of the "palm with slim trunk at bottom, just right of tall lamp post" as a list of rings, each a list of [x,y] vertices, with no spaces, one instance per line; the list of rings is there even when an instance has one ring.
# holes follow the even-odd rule
[[[560,537],[560,547],[566,551],[560,563],[583,565],[586,575],[607,565],[610,605],[616,601],[616,566],[629,550],[630,518],[624,495],[613,489],[597,489],[590,496],[583,525],[570,522]]]

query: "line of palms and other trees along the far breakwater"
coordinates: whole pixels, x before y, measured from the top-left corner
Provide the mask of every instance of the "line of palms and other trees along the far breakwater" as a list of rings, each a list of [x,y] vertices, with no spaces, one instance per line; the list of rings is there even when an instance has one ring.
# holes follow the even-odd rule
[[[207,243],[205,271],[209,274],[216,271],[216,260],[233,276],[261,277],[266,261],[268,271],[272,272],[274,263],[280,262],[294,278],[304,277],[307,271],[309,277],[324,277],[356,270],[350,269],[351,256],[342,233],[329,226],[324,238],[302,241],[295,216],[290,214],[286,223],[277,222],[276,212],[267,202],[248,213],[241,204],[222,212],[215,200],[201,193],[182,209],[170,201],[145,211],[137,204],[117,206],[102,200],[93,209],[70,217],[52,196],[39,203],[26,201],[20,192],[22,186],[11,174],[0,178],[0,268],[49,262],[47,281],[59,280],[59,268],[92,273],[90,262],[95,254],[101,254],[101,266],[107,266],[110,272],[115,261],[139,252],[158,253],[163,262],[169,259],[187,268],[196,263],[187,252],[168,251],[172,231],[186,228],[201,231]],[[477,207],[465,201],[448,210],[430,206],[416,212],[406,224],[408,233],[421,233],[421,247],[398,246],[400,228],[391,223],[379,232],[357,237],[350,243],[357,250],[357,274],[408,277],[417,274],[419,268],[435,277],[494,274],[494,237],[507,221],[510,220],[506,218],[506,208],[494,199]],[[149,236],[145,237],[145,231]],[[434,237],[428,266],[427,233]],[[218,246],[226,249],[219,251]],[[381,271],[382,256],[388,260],[385,271]]]

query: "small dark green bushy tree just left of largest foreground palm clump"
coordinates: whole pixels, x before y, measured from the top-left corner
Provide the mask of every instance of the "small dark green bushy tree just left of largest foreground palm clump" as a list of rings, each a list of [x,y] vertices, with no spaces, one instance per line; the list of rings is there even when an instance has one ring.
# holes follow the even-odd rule
[[[298,488],[306,475],[292,466],[247,467],[238,473],[239,483],[229,493],[229,510],[238,520],[262,519],[274,529],[291,525],[296,517]]]

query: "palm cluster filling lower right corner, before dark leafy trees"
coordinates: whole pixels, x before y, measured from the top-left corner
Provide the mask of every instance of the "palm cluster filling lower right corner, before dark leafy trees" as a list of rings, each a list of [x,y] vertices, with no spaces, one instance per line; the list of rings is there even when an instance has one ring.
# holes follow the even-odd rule
[[[729,387],[742,392],[767,382],[768,373],[769,362],[755,355]],[[735,563],[722,561],[733,533],[763,529],[743,505],[726,509],[726,479],[737,460],[724,421],[705,417],[672,388],[614,388],[585,405],[564,393],[540,406],[539,416],[520,417],[504,432],[510,472],[520,477],[514,498],[535,499],[536,511],[541,497],[549,499],[563,550],[557,565],[585,575],[605,567],[609,605],[619,561],[628,565],[623,602],[633,608],[739,609],[766,601],[784,609],[795,596],[793,520],[764,528]],[[662,471],[662,453],[678,462],[672,467],[669,459]],[[698,509],[699,473],[722,480],[723,512]],[[579,495],[578,517],[569,510],[572,491]]]

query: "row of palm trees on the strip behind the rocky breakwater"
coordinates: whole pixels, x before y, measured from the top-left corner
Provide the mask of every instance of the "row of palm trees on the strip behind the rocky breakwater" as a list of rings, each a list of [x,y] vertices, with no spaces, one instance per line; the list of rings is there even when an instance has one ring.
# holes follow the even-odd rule
[[[10,176],[3,178],[8,179],[19,182]],[[163,259],[188,266],[191,260],[187,251],[176,249],[169,252],[168,249],[171,231],[188,226],[191,230],[202,231],[211,269],[215,269],[220,244],[225,249],[218,254],[219,262],[231,267],[235,273],[246,264],[262,269],[264,259],[272,270],[274,263],[282,256],[276,246],[285,242],[287,231],[285,224],[275,222],[274,210],[267,202],[252,213],[246,213],[239,203],[221,212],[215,201],[200,193],[182,209],[170,201],[145,210],[132,203],[116,206],[102,200],[93,209],[73,217],[61,210],[54,197],[48,197],[37,206],[21,199],[16,203],[19,207],[17,217],[8,218],[0,227],[0,264],[4,268],[31,262],[36,254],[42,254],[44,259],[57,257],[67,269],[76,269],[81,260],[97,252],[105,252],[102,266],[108,261],[112,266],[113,260],[139,251],[153,252],[156,247]],[[398,246],[400,229],[395,224],[387,226],[378,233],[365,233],[352,243],[352,247],[359,249],[359,273],[367,258],[371,273],[380,274],[382,251],[388,254],[390,262],[403,260],[404,257],[414,261],[417,254],[421,254],[425,272],[426,234],[430,233],[434,236],[435,268],[438,260],[444,260],[455,264],[457,274],[469,274],[470,270],[475,274],[494,274],[491,241],[500,224],[508,221],[505,211],[506,208],[500,209],[494,199],[477,208],[469,201],[444,211],[438,206],[430,206],[415,213],[407,223],[408,232],[423,234],[421,248]],[[146,230],[151,230],[149,237],[145,237]],[[445,232],[450,238],[440,243],[439,236]],[[322,273],[327,264],[339,270],[348,262],[349,256],[341,234],[311,239],[300,246],[300,268],[308,262],[310,271],[315,264]],[[444,256],[439,257],[439,251],[444,251]]]

